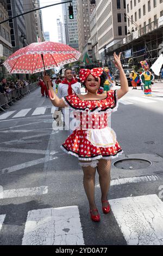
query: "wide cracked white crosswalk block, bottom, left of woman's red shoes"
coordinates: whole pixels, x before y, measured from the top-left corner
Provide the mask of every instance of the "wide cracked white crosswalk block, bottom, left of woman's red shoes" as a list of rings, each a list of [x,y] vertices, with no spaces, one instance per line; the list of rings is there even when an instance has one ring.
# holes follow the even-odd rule
[[[78,206],[29,211],[22,245],[84,245]]]

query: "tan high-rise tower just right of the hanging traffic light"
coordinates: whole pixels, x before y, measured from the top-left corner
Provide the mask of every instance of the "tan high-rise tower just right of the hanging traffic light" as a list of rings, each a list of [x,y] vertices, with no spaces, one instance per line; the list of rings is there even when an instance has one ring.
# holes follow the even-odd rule
[[[90,15],[94,5],[90,0],[78,1],[77,3],[77,22],[78,22],[78,40],[79,52],[83,52],[85,44],[90,39]]]

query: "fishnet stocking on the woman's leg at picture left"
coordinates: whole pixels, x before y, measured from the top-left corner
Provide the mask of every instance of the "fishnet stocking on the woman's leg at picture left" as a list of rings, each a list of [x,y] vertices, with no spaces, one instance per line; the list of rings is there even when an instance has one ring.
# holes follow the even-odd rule
[[[82,163],[83,161],[80,161]],[[84,161],[86,163],[86,161]],[[91,162],[90,162],[91,163]],[[97,209],[95,204],[95,174],[96,174],[96,167],[83,167],[83,185],[84,190],[87,196],[87,199],[89,200],[90,204],[90,210]],[[93,211],[93,215],[96,215],[97,211]]]

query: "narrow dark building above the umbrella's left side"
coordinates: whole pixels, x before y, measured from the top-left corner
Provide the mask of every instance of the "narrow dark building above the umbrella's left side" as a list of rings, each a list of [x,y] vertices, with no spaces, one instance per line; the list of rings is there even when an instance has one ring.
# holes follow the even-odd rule
[[[7,1],[8,15],[9,17],[16,16],[24,13],[24,7],[21,0],[8,0]],[[24,16],[17,17],[9,22],[11,27],[11,44],[13,52],[27,46],[27,42],[24,41],[23,36],[26,36],[26,23]]]

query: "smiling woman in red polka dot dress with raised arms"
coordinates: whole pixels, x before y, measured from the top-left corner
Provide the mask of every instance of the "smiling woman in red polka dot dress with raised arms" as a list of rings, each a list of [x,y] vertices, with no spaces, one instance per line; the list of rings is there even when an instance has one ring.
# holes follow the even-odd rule
[[[90,205],[92,221],[98,222],[100,216],[95,203],[95,173],[96,167],[101,186],[101,202],[104,214],[110,211],[108,191],[110,186],[111,159],[122,154],[122,149],[116,140],[115,132],[108,125],[111,112],[117,110],[118,99],[128,92],[128,82],[121,65],[121,53],[114,53],[114,63],[120,70],[121,89],[108,91],[107,94],[97,94],[102,82],[103,69],[80,70],[80,81],[84,83],[87,94],[63,97],[59,99],[49,88],[49,97],[54,106],[71,107],[76,119],[76,129],[61,148],[68,154],[78,157],[84,172],[84,189]]]

